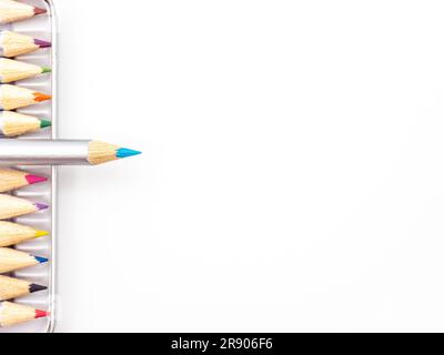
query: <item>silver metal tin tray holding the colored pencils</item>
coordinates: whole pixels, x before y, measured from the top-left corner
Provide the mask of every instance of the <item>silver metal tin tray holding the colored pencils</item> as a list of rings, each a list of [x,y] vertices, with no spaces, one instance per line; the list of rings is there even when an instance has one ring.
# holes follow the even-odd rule
[[[14,32],[32,36],[42,40],[52,42],[51,49],[42,49],[36,52],[17,57],[16,59],[46,65],[52,68],[52,74],[40,75],[32,79],[21,80],[17,84],[24,88],[34,89],[52,94],[52,100],[31,105],[29,108],[17,110],[24,114],[31,114],[39,118],[52,120],[50,130],[42,130],[36,134],[26,135],[23,139],[56,139],[57,138],[57,32],[56,14],[51,0],[20,0],[39,8],[48,10],[48,13],[37,16],[32,19],[14,23],[0,26],[1,30],[11,30]],[[17,245],[16,248],[26,251],[50,260],[47,264],[24,268],[12,274],[13,277],[23,278],[42,285],[48,290],[38,292],[29,296],[13,300],[14,303],[29,305],[36,308],[49,311],[48,318],[40,318],[29,323],[20,324],[13,327],[0,328],[0,333],[51,333],[56,324],[56,304],[57,304],[57,169],[52,166],[13,166],[23,169],[37,175],[49,178],[48,182],[36,184],[13,192],[13,195],[28,199],[34,202],[48,203],[50,209],[38,213],[21,216],[14,220],[17,223],[30,225],[39,230],[50,232],[49,236]]]

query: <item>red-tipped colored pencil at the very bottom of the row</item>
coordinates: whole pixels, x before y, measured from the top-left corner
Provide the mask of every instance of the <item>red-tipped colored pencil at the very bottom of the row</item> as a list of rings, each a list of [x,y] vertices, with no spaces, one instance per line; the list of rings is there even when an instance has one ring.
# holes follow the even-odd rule
[[[0,327],[3,328],[47,316],[49,316],[49,313],[46,311],[34,310],[11,302],[0,303]]]

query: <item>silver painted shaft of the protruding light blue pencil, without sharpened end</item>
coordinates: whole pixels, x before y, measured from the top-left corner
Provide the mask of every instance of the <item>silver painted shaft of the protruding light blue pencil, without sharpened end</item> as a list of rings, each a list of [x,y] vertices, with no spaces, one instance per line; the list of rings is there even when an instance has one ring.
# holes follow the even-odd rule
[[[89,165],[90,141],[0,140],[0,165]]]

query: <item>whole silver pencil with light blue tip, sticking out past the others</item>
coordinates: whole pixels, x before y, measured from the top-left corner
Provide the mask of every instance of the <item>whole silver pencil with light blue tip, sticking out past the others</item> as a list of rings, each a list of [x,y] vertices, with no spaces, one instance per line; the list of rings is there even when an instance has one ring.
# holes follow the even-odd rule
[[[0,164],[98,165],[141,152],[99,141],[0,140]]]

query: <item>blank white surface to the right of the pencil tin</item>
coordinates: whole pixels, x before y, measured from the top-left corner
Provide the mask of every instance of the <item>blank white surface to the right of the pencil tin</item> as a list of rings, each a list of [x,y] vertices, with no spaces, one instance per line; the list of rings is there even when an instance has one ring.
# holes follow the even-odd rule
[[[59,332],[444,331],[444,3],[57,0]]]

